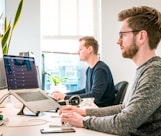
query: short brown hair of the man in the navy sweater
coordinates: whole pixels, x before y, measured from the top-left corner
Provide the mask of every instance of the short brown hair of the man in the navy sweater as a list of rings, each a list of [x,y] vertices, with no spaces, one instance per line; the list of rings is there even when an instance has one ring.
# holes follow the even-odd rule
[[[92,46],[93,50],[94,50],[94,54],[98,53],[98,46],[99,45],[98,45],[97,40],[94,37],[92,37],[92,36],[84,36],[84,37],[79,39],[79,41],[82,41],[82,40],[85,41],[85,47]]]

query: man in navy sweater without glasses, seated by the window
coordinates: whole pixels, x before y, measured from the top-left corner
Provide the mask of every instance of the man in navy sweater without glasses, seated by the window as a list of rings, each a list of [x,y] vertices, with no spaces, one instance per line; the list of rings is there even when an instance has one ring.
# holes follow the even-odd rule
[[[72,95],[81,98],[94,98],[98,107],[113,105],[115,87],[110,68],[98,57],[98,42],[94,37],[85,36],[79,40],[78,55],[81,61],[88,63],[86,71],[86,86],[82,90],[71,93],[53,92],[52,96],[57,100],[67,100]]]

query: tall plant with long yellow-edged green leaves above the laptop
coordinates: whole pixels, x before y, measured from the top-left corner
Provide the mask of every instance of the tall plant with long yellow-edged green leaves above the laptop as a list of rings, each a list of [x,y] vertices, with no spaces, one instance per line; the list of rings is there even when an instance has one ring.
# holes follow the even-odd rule
[[[13,30],[20,19],[22,5],[23,5],[23,0],[20,0],[14,20],[13,20],[13,24],[11,24],[11,22],[8,22],[7,17],[5,17],[4,19],[4,34],[0,34],[3,54],[8,54]]]

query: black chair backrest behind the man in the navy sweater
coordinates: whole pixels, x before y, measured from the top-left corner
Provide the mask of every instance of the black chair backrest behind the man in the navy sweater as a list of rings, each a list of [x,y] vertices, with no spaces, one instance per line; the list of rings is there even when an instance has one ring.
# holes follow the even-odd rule
[[[120,81],[115,85],[116,96],[114,100],[114,105],[123,103],[128,85],[129,83],[127,81]]]

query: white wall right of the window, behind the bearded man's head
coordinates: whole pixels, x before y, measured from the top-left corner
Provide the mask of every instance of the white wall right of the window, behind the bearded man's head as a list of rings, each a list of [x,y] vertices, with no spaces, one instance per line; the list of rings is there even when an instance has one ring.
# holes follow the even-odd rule
[[[136,66],[130,59],[121,55],[120,47],[116,44],[119,33],[117,14],[123,9],[133,6],[147,5],[161,11],[161,1],[158,0],[102,0],[102,60],[111,68],[114,81],[133,81]],[[157,50],[161,56],[161,45]]]

